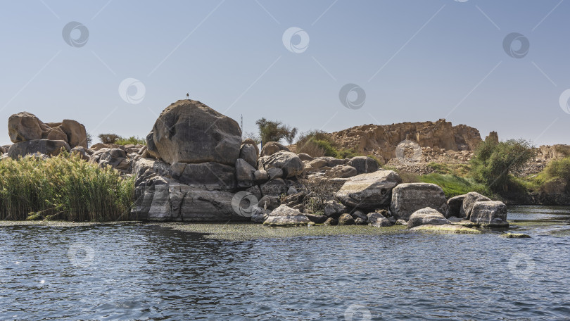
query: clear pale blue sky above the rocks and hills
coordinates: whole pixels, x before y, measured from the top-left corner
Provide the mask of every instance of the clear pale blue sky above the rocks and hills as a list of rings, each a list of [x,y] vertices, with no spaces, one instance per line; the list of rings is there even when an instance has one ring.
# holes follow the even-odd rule
[[[243,115],[245,132],[260,117],[327,132],[446,118],[483,138],[495,130],[500,139],[570,144],[566,96],[560,103],[570,89],[570,1],[0,6],[4,124],[29,111],[44,122],[78,120],[94,137],[145,137],[160,111],[190,92],[238,122]],[[341,103],[346,84],[362,88],[348,88],[348,106],[365,93],[360,108]]]

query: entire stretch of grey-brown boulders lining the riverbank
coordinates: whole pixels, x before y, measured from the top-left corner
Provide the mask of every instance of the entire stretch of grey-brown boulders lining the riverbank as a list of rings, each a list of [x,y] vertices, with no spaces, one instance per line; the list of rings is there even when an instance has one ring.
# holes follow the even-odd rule
[[[277,142],[261,151],[238,123],[200,101],[160,113],[143,145],[95,144],[75,120],[44,123],[12,115],[14,144],[3,157],[57,155],[62,149],[135,180],[134,220],[300,225],[407,225],[410,229],[507,227],[500,201],[471,192],[446,199],[436,184],[403,183],[373,158],[313,158]]]

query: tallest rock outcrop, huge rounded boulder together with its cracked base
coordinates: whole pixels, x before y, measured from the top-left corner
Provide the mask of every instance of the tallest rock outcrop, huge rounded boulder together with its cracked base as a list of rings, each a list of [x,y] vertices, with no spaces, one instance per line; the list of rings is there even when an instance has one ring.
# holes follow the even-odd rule
[[[154,158],[133,165],[134,218],[199,222],[253,215],[232,206],[241,201],[234,200],[238,188],[261,196],[249,163],[257,152],[241,149],[248,144],[241,145],[237,122],[199,101],[177,101],[160,114],[147,143]],[[238,158],[240,152],[245,158]]]

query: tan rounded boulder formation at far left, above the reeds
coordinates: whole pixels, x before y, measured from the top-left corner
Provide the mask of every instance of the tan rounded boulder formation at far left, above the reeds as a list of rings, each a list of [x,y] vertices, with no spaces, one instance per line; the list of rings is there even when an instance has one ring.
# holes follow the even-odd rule
[[[87,132],[79,122],[65,119],[62,122],[44,123],[34,114],[25,111],[8,118],[8,135],[14,143],[49,139],[65,141],[71,148],[87,148]]]

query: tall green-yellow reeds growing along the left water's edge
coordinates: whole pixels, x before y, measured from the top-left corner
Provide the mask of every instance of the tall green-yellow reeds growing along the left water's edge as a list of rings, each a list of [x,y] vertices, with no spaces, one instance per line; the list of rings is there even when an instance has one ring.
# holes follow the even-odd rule
[[[128,220],[134,180],[61,153],[0,162],[0,219]]]

